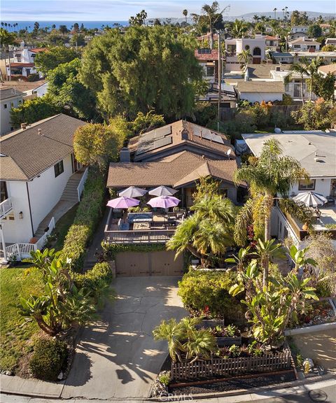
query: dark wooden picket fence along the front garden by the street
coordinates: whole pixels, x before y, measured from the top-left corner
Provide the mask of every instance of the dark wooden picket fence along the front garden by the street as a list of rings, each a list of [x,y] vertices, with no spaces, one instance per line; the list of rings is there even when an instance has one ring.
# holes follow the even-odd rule
[[[172,362],[172,379],[212,378],[249,372],[272,372],[290,369],[290,351],[269,353],[262,357],[213,358],[195,362]]]

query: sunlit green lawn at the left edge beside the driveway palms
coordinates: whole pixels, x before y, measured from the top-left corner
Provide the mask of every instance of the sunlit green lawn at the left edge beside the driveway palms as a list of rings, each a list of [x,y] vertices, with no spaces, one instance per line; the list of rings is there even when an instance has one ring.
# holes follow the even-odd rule
[[[0,269],[0,368],[15,369],[18,360],[30,349],[29,340],[39,331],[36,323],[27,323],[18,314],[14,304],[20,296],[38,295],[43,290],[41,274],[32,267],[12,267]],[[27,274],[29,271],[29,274]]]

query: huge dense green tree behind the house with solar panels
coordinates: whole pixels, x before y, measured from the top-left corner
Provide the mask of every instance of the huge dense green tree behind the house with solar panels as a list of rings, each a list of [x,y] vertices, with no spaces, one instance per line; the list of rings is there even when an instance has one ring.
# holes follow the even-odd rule
[[[195,81],[202,80],[192,38],[174,27],[111,29],[85,50],[80,79],[97,96],[106,120],[153,109],[165,118],[193,113]]]

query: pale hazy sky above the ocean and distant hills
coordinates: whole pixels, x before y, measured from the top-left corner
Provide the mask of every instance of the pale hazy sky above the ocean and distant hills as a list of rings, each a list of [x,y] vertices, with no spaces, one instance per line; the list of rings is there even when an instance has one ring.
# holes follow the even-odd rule
[[[145,9],[148,18],[183,17],[182,10],[200,13],[204,3],[212,0],[1,0],[1,20],[14,21],[113,21],[128,20]],[[241,15],[288,6],[288,11],[306,10],[336,13],[335,0],[231,0],[219,1],[221,9],[230,5],[224,15]]]

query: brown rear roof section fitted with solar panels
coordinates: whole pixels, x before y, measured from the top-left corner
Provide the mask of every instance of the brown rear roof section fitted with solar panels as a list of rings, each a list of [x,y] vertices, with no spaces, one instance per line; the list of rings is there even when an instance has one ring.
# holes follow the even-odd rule
[[[191,122],[184,122],[183,120],[178,120],[177,122],[172,123],[171,125],[166,125],[164,127],[161,127],[160,130],[165,130],[169,129],[170,134],[165,136],[166,138],[171,136],[172,141],[164,146],[160,146],[158,148],[155,148],[153,150],[148,150],[145,153],[136,154],[134,160],[135,161],[141,161],[145,160],[146,157],[149,155],[158,155],[158,158],[160,158],[160,153],[162,151],[166,151],[169,148],[172,148],[172,151],[175,150],[175,153],[178,153],[181,151],[181,148],[197,148],[200,150],[201,155],[206,155],[208,153],[215,153],[219,156],[225,156],[227,151],[229,149],[232,150],[230,141],[226,138],[224,134],[215,132],[214,130],[208,129],[207,127],[202,127],[199,125],[195,125],[195,123]],[[182,132],[185,132],[186,136],[182,135]],[[153,133],[155,132],[155,129],[152,130],[151,132],[147,132],[144,134],[141,134],[140,136],[134,137],[131,139],[129,147],[130,151],[134,150],[139,150],[141,147],[141,143],[146,142],[146,144],[151,143],[151,141],[154,141],[153,139]],[[197,135],[198,134],[198,135]],[[202,137],[201,137],[202,134]],[[223,143],[217,143],[216,141],[211,141],[210,139],[206,139],[205,137],[209,137],[211,134],[214,134],[216,136],[219,136]],[[148,140],[149,139],[149,140]],[[194,152],[194,151],[193,151]],[[232,150],[232,157],[235,157],[235,153]]]

